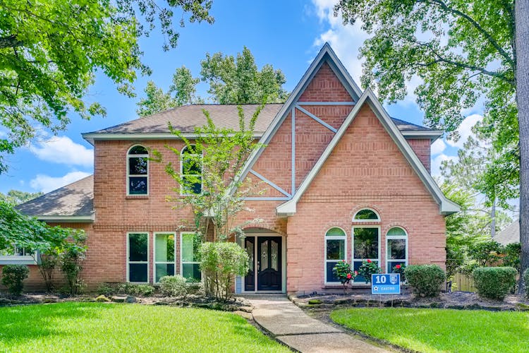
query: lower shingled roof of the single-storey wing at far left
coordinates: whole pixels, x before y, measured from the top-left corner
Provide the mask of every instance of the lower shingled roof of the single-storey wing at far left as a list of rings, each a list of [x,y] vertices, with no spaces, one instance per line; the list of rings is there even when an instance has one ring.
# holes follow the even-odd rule
[[[93,222],[94,176],[86,177],[16,206],[47,222]]]

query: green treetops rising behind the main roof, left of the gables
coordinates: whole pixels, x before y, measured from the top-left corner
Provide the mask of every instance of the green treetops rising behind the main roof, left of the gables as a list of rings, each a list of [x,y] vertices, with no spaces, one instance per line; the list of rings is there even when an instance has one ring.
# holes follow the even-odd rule
[[[203,103],[205,100],[196,95],[196,85],[201,80],[209,84],[209,101],[220,104],[261,104],[265,100],[267,103],[282,103],[288,97],[283,88],[286,82],[284,73],[270,64],[259,71],[247,47],[236,58],[221,52],[207,53],[200,64],[200,78],[193,78],[185,66],[177,68],[167,92],[149,81],[145,97],[137,103],[138,115],[146,116],[183,104]]]

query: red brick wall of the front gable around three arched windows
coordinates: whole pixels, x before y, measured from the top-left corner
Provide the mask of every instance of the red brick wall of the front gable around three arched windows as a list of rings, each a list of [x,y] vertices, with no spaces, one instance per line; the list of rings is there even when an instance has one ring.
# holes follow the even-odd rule
[[[400,226],[408,232],[408,263],[444,268],[445,228],[439,205],[413,172],[399,148],[365,105],[300,199],[287,225],[287,289],[324,287],[324,234],[342,227],[351,261],[353,215],[370,207],[382,222],[381,266],[386,264],[385,234]]]

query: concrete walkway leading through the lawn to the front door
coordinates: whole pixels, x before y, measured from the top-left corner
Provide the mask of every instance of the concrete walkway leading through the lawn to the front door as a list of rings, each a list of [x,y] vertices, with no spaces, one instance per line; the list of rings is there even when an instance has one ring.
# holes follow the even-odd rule
[[[247,297],[253,319],[276,340],[299,352],[387,352],[311,318],[285,297]]]

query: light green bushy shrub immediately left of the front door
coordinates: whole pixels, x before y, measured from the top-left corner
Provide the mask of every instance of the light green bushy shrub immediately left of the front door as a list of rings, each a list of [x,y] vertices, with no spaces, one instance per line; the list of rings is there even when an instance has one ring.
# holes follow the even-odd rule
[[[200,270],[205,273],[207,294],[214,295],[217,300],[229,299],[233,277],[248,273],[248,253],[241,246],[228,242],[204,243],[200,253]]]

